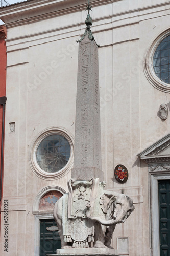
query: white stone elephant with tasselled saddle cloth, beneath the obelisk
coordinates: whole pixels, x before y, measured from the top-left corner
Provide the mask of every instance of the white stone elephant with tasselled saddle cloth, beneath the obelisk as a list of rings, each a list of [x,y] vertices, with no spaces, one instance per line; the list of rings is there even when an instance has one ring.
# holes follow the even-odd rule
[[[135,207],[131,198],[104,186],[98,178],[69,181],[69,193],[54,207],[62,248],[112,248],[116,224],[125,222]]]

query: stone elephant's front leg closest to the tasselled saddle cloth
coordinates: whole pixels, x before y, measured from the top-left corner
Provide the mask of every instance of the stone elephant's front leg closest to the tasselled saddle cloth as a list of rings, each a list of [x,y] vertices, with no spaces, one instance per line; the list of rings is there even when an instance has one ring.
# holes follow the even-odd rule
[[[95,233],[94,233],[94,247],[95,248],[107,248],[104,245],[106,226],[102,226],[99,222],[95,223]]]

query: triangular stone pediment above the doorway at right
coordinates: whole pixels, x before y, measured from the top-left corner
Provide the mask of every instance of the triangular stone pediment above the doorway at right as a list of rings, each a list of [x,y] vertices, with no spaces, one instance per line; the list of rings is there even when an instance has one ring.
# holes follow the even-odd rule
[[[170,134],[167,134],[151,146],[145,148],[137,156],[146,163],[170,161]]]

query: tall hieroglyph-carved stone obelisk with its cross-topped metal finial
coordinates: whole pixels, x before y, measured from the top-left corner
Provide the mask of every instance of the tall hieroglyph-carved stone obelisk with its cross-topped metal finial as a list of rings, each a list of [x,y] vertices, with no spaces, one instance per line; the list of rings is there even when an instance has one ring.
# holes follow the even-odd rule
[[[74,168],[71,177],[88,180],[90,177],[103,181],[101,165],[101,129],[99,102],[98,45],[90,26],[92,18],[88,1],[86,30],[79,42],[78,80],[76,102],[76,127]]]

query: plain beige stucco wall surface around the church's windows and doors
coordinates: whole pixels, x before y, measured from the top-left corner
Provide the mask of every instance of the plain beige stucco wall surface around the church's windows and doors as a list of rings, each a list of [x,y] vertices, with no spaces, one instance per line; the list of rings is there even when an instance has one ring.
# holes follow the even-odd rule
[[[7,25],[7,104],[5,123],[3,200],[9,202],[8,252],[3,255],[34,255],[37,194],[56,185],[67,191],[66,176],[45,180],[29,163],[30,148],[50,127],[75,133],[78,44],[84,33],[85,2],[41,0],[0,10]],[[162,1],[91,1],[91,28],[99,48],[102,166],[107,189],[132,197],[135,211],[113,235],[129,238],[130,256],[149,256],[148,166],[137,158],[141,150],[169,133],[170,119],[157,115],[170,96],[155,89],[144,75],[147,51],[168,29],[170,3]],[[67,9],[68,8],[68,9]],[[63,9],[63,10],[62,10]],[[22,13],[21,13],[22,12]],[[15,14],[13,14],[15,13]],[[43,14],[43,16],[42,16]],[[54,62],[57,61],[57,62]],[[50,68],[49,68],[50,67]],[[15,132],[9,123],[15,122]],[[123,164],[129,179],[119,184],[114,168]],[[3,211],[3,206],[1,207]],[[4,242],[1,215],[1,242]],[[154,255],[156,256],[156,255]]]

